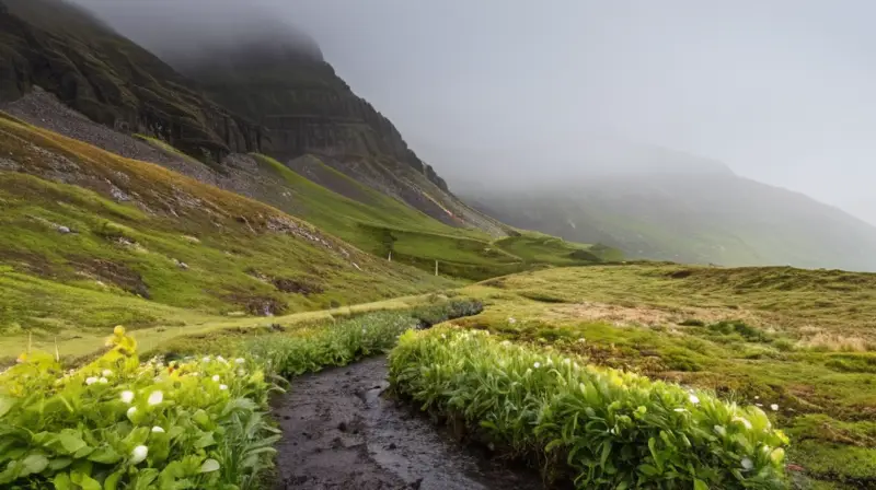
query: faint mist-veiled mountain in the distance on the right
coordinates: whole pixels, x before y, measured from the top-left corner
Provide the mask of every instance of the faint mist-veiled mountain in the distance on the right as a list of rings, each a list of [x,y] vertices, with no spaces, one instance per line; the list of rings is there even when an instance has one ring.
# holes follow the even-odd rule
[[[546,172],[527,184],[469,185],[461,195],[508,224],[630,257],[876,270],[876,229],[805,195],[665,149],[590,156],[583,152],[562,178]]]

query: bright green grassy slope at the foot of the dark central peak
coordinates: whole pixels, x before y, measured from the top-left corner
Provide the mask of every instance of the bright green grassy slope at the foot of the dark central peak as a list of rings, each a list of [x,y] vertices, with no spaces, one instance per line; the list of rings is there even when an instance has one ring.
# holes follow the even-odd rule
[[[356,187],[365,202],[328,190],[274,159],[256,158],[267,171],[286,180],[298,202],[297,215],[379,257],[387,257],[392,249],[394,260],[429,271],[438,260],[441,273],[475,280],[517,272],[532,264],[590,261],[587,257],[569,256],[575,250],[588,249],[587,245],[529,234],[493,243],[486,233],[442,224],[327,166],[323,172]]]

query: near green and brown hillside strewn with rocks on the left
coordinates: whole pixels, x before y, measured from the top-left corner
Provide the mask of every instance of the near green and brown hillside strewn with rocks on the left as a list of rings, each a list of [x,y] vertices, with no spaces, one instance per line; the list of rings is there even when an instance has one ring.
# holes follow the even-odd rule
[[[312,311],[453,283],[377,259],[261,202],[13,119],[0,118],[0,154],[5,168],[19,165],[0,171],[7,335],[64,340],[118,323],[182,325],[264,305]],[[113,188],[140,206],[112,200]],[[284,292],[272,279],[315,291]]]

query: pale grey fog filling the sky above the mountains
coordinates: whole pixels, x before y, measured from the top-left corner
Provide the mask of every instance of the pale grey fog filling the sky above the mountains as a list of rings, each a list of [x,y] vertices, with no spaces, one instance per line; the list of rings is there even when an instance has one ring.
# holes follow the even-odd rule
[[[866,0],[78,2],[159,54],[296,25],[451,185],[654,144],[876,222]]]

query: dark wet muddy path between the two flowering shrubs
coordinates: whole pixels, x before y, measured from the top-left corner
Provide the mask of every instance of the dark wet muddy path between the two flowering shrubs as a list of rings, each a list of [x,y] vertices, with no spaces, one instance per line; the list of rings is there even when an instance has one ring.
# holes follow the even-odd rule
[[[385,359],[302,376],[275,400],[276,489],[541,490],[537,475],[461,447],[382,396]]]

